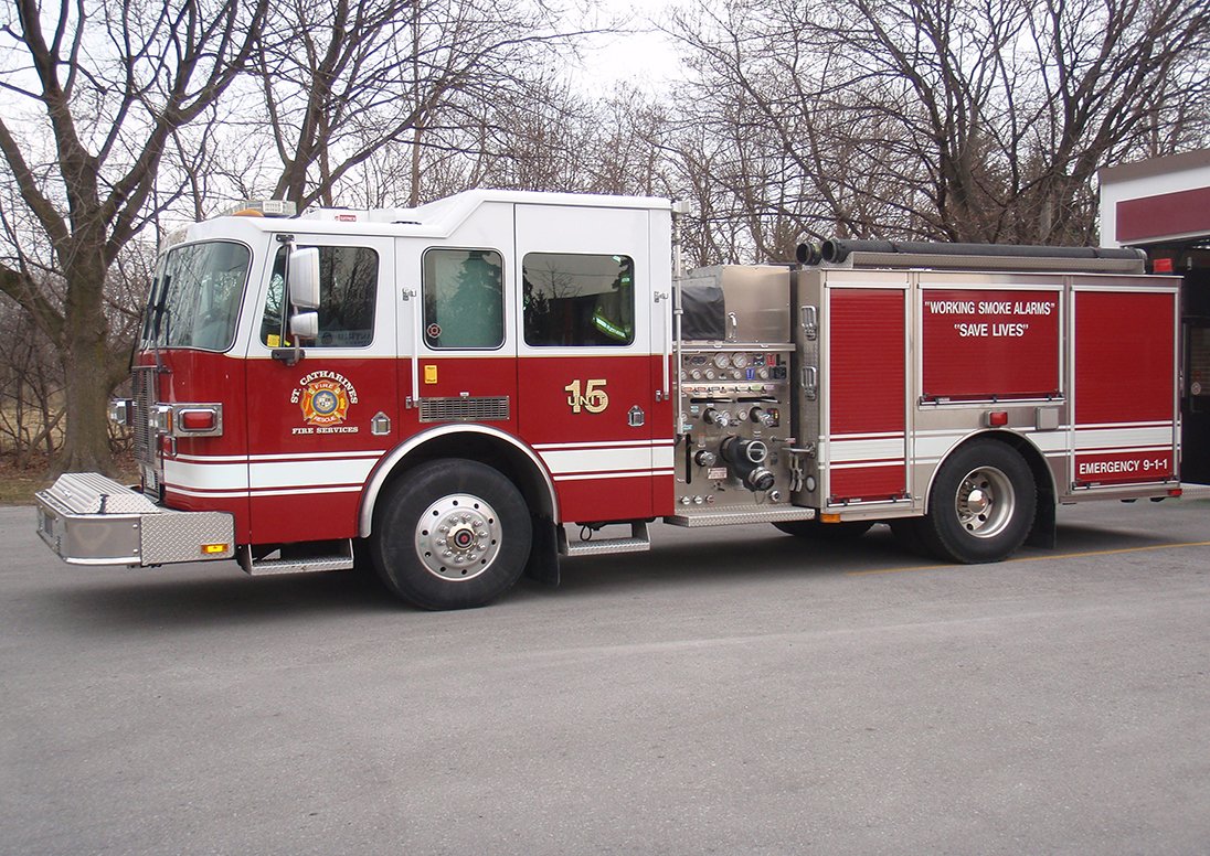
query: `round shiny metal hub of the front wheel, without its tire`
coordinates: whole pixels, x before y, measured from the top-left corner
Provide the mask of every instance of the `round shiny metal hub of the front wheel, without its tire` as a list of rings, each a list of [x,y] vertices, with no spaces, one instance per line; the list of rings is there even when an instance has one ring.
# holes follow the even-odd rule
[[[416,555],[434,577],[473,579],[491,567],[503,534],[491,505],[479,497],[442,497],[416,522]]]

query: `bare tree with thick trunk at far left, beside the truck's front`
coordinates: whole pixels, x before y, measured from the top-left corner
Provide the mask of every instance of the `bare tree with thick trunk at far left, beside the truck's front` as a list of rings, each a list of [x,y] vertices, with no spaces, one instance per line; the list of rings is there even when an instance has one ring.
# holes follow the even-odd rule
[[[126,355],[110,337],[106,276],[149,218],[179,195],[155,193],[166,146],[242,70],[267,5],[63,0],[44,8],[17,0],[10,7],[0,31],[15,64],[0,86],[31,109],[0,117],[2,177],[22,207],[5,212],[16,239],[0,289],[62,357],[60,468],[110,468],[105,400]]]

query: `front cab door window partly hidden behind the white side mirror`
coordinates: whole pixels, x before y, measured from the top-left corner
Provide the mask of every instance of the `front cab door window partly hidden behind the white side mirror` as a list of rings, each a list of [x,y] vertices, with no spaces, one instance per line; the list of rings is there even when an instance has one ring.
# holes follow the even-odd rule
[[[378,253],[367,247],[319,247],[319,335],[315,348],[363,348],[374,341],[378,302]],[[282,283],[286,248],[273,260],[269,299],[260,322],[260,341],[282,345]],[[287,342],[288,343],[288,342]]]

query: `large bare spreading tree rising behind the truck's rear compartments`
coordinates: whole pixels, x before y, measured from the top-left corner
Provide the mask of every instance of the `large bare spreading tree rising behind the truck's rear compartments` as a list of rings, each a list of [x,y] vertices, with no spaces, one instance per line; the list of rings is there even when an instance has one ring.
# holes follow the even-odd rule
[[[764,249],[795,219],[1087,242],[1100,167],[1206,128],[1195,0],[749,0],[675,29],[699,73],[685,120],[710,128],[711,168]]]

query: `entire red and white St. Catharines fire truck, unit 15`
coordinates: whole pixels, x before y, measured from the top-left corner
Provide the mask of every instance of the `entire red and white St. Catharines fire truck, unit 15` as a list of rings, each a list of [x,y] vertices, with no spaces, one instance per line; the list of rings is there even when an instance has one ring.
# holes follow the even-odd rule
[[[365,561],[457,608],[657,520],[887,522],[984,562],[1059,504],[1181,493],[1179,279],[1137,250],[834,241],[674,276],[667,199],[243,214],[160,260],[111,413],[142,484],[39,494],[68,562]]]

